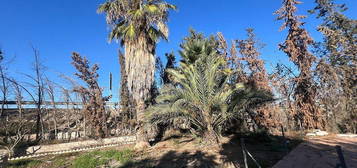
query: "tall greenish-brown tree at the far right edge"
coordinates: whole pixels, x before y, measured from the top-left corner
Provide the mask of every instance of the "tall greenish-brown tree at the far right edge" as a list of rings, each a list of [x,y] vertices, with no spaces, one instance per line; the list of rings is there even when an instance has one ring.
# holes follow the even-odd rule
[[[357,132],[357,20],[343,14],[347,10],[344,4],[335,4],[334,0],[315,2],[317,6],[310,12],[323,20],[318,31],[324,39],[317,43],[322,102],[326,113],[342,116],[343,120],[337,121],[341,131]]]

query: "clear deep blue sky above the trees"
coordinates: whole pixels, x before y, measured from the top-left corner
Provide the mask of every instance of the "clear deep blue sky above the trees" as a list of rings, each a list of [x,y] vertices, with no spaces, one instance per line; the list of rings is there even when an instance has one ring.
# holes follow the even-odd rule
[[[58,74],[73,76],[70,64],[71,53],[79,52],[91,63],[100,65],[100,83],[108,87],[109,72],[113,73],[114,87],[119,82],[117,51],[119,45],[109,44],[108,26],[104,15],[96,8],[105,0],[1,0],[0,1],[0,47],[8,59],[8,73],[21,81],[26,78],[20,73],[31,73],[33,53],[31,45],[40,51],[46,74],[60,83]],[[307,14],[314,7],[314,0],[302,0],[299,13]],[[336,0],[346,3],[346,14],[357,19],[356,0]],[[245,29],[253,27],[257,37],[266,44],[261,50],[262,58],[269,67],[277,62],[287,63],[284,53],[277,48],[284,41],[286,32],[279,32],[281,22],[275,21],[273,12],[281,6],[281,0],[170,0],[178,11],[170,15],[169,42],[161,41],[157,55],[179,49],[179,44],[194,28],[206,35],[222,32],[228,40],[245,38]],[[306,28],[315,40],[321,40],[316,32],[320,23],[315,16],[305,19]],[[269,68],[268,68],[269,69]],[[114,100],[117,99],[114,90]]]

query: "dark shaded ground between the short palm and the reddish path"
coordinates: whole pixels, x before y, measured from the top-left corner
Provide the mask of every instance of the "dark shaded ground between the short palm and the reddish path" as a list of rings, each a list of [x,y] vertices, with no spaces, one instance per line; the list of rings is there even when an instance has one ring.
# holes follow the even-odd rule
[[[261,133],[236,134],[221,145],[220,154],[224,156],[224,162],[244,167],[241,138],[244,138],[246,149],[261,167],[272,167],[302,142],[301,139],[286,138],[288,143],[285,145],[282,136]],[[257,167],[249,156],[247,158],[250,168]]]

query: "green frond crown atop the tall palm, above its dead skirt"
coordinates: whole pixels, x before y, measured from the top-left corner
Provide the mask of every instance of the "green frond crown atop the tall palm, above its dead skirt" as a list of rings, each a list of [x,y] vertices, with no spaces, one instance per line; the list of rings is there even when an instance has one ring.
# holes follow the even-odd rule
[[[134,40],[140,33],[156,42],[167,40],[167,17],[176,6],[162,0],[108,0],[101,4],[98,13],[106,14],[106,21],[112,26],[109,40]]]

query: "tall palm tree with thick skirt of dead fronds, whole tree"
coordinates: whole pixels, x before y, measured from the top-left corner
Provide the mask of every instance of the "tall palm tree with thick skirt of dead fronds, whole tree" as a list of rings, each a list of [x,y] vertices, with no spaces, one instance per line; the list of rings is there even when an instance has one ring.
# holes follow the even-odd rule
[[[125,72],[129,94],[136,104],[138,141],[146,141],[143,130],[145,99],[154,82],[155,48],[159,39],[168,38],[168,13],[176,9],[162,0],[108,0],[98,8],[106,13],[112,28],[109,39],[125,48]]]

